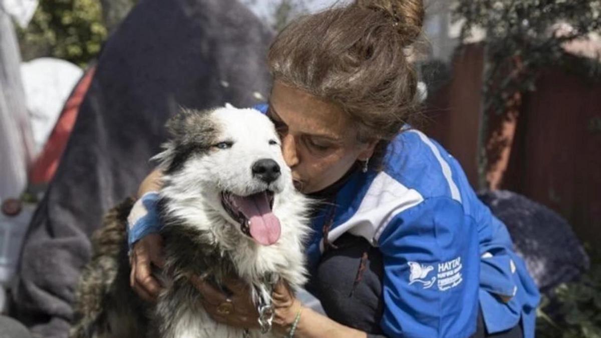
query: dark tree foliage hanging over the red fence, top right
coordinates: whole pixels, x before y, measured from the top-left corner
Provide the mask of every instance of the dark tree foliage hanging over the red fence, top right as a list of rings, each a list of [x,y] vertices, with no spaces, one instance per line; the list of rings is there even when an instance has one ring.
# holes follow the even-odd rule
[[[565,63],[565,43],[601,32],[600,13],[601,0],[460,0],[462,36],[486,32],[484,110],[502,111],[507,96],[534,90],[543,67]]]

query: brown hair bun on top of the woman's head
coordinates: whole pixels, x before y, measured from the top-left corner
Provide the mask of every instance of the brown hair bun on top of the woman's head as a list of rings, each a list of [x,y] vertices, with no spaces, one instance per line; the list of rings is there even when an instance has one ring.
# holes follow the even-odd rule
[[[414,41],[424,24],[423,0],[355,0],[361,8],[383,11],[404,39]]]

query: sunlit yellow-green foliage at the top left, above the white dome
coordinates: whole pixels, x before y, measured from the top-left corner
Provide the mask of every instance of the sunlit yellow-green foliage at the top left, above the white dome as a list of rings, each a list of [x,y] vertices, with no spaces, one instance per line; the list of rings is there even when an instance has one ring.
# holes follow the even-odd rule
[[[17,29],[23,60],[61,58],[85,67],[106,40],[97,0],[40,1],[26,29]]]

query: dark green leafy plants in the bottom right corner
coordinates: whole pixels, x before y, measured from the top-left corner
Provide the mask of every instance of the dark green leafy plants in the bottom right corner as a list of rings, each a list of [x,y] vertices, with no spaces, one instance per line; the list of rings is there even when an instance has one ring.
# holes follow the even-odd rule
[[[601,338],[601,254],[594,257],[581,280],[558,286],[551,293],[553,301],[543,298],[537,337]]]

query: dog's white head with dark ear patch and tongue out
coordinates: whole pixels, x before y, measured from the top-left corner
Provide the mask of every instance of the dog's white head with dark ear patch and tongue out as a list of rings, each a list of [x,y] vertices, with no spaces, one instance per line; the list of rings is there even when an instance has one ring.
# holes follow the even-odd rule
[[[171,211],[181,209],[188,220],[217,212],[259,244],[278,241],[274,201],[294,188],[269,118],[226,105],[183,109],[167,126],[171,138],[155,159],[165,173],[162,194]]]

